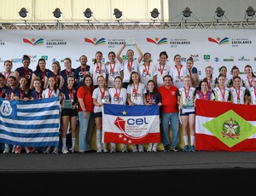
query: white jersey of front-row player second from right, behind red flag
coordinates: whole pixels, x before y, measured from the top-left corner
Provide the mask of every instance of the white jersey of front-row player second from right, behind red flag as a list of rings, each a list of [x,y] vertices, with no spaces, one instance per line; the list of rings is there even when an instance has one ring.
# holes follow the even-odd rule
[[[230,101],[236,104],[244,104],[245,95],[248,95],[247,88],[241,86],[236,89],[234,86],[230,88]]]

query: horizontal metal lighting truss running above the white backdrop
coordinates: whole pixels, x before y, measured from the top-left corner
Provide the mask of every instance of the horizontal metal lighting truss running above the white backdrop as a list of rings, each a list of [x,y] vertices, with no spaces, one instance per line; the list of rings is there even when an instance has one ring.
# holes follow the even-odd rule
[[[209,22],[18,22],[0,23],[0,30],[160,30],[160,29],[256,29],[256,20]]]

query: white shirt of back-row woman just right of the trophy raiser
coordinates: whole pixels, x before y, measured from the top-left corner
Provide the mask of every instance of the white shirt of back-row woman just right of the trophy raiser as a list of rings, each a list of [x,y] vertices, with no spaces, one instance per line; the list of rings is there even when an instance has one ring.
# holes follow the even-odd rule
[[[155,66],[150,63],[148,66],[145,66],[144,64],[139,65],[137,70],[140,76],[140,82],[145,84],[146,87],[148,85],[148,80],[153,80],[154,76],[157,75]]]

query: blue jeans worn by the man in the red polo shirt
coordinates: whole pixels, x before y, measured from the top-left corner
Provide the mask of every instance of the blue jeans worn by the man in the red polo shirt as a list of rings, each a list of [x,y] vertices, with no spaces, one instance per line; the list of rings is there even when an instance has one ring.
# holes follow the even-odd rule
[[[161,135],[162,143],[164,146],[170,145],[169,139],[169,122],[172,130],[172,148],[177,147],[179,144],[179,120],[177,112],[174,113],[161,113]]]

